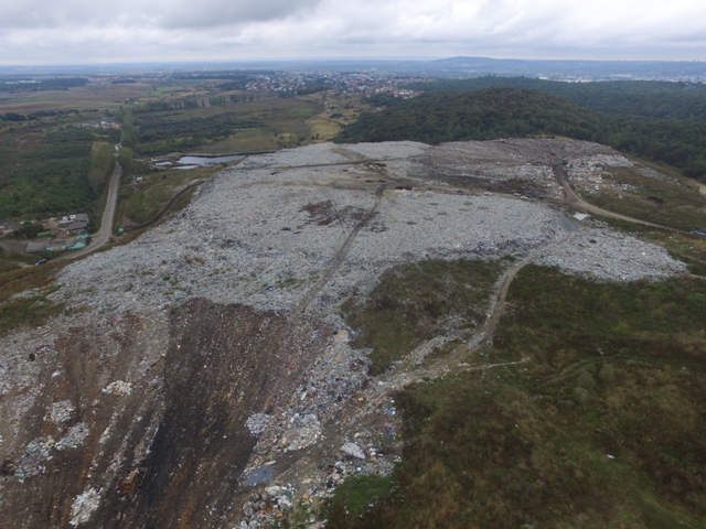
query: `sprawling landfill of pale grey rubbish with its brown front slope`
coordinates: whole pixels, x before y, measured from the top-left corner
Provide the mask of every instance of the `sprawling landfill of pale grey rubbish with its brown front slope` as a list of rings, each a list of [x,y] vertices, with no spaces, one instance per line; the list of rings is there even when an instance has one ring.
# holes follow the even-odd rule
[[[550,139],[284,150],[66,266],[51,294],[66,311],[0,341],[3,525],[271,527],[350,473],[389,473],[400,452],[375,429],[395,434],[392,392],[421,374],[372,377],[339,312],[385,270],[512,257],[597,281],[685,271],[590,217],[471,185],[553,196],[561,162],[631,163]]]

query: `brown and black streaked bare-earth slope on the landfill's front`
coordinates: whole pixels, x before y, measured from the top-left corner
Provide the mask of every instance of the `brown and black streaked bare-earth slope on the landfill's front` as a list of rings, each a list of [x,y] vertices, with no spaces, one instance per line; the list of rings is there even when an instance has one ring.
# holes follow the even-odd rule
[[[4,527],[72,527],[72,504],[90,489],[99,497],[92,527],[222,527],[225,514],[239,516],[238,478],[256,442],[245,420],[289,399],[331,331],[204,300],[169,321],[164,328],[132,315],[72,328],[38,358],[45,390],[6,460],[15,475],[4,476]],[[131,392],[105,395],[118,379],[136,380]],[[55,402],[74,408],[58,424],[46,413]],[[84,443],[22,463],[33,440],[57,441],[79,423],[90,432]],[[39,475],[19,479],[28,463]],[[117,487],[136,468],[142,483],[125,494]]]

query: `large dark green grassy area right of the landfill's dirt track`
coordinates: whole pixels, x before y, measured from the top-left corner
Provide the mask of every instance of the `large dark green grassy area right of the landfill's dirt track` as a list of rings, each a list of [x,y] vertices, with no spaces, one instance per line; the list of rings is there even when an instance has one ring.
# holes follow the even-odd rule
[[[387,500],[336,528],[706,523],[706,282],[593,283],[527,267],[485,361],[395,397]]]

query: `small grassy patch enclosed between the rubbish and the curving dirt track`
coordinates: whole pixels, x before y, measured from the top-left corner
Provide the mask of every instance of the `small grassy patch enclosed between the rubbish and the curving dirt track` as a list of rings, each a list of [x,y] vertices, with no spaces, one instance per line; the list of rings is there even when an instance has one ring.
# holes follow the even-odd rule
[[[383,373],[426,339],[466,332],[485,315],[502,262],[441,259],[406,263],[383,273],[367,300],[342,306],[357,331],[356,347],[372,347],[371,373]]]

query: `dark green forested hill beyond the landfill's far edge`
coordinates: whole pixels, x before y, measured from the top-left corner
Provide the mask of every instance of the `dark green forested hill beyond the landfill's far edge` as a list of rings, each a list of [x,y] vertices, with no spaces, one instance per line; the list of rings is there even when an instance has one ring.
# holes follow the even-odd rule
[[[472,87],[498,79],[507,84],[536,84],[543,89],[552,87],[561,93],[561,97],[523,87],[495,86],[472,91],[436,89]],[[383,110],[362,115],[341,131],[336,141],[416,140],[435,144],[537,134],[565,136],[608,144],[678,168],[687,176],[706,180],[706,89],[694,88],[693,99],[689,99],[691,95],[674,91],[674,97],[666,98],[660,110],[650,101],[676,88],[664,88],[664,84],[656,87],[635,84],[629,88],[622,83],[593,85],[605,85],[605,91],[598,89],[601,87],[522,78],[429,83],[425,87],[435,89],[414,99],[372,98],[375,105],[383,106]],[[571,93],[574,86],[579,88]],[[641,86],[644,87],[642,91]],[[581,94],[590,90],[593,90],[590,97],[582,98]],[[584,102],[568,100],[566,95],[569,93],[571,99],[584,99]],[[632,101],[632,105],[624,101]],[[587,108],[589,105],[600,111]]]

